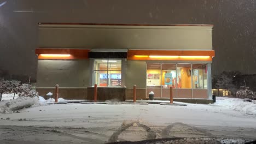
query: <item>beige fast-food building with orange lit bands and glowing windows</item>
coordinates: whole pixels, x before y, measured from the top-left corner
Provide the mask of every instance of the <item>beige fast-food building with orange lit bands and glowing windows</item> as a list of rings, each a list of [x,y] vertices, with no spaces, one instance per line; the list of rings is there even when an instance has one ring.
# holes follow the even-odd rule
[[[92,100],[212,99],[212,25],[39,23],[37,91]]]

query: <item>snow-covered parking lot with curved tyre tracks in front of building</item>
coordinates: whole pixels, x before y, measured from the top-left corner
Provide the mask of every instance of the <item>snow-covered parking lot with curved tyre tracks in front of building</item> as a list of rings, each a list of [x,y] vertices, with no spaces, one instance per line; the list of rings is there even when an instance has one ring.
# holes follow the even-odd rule
[[[249,108],[236,109],[238,106],[248,105],[250,105]],[[187,106],[118,103],[43,105],[13,113],[0,113],[0,134],[2,135],[0,140],[5,140],[7,143],[13,140],[31,142],[42,140],[44,143],[57,143],[66,141],[65,136],[68,136],[69,142],[104,143],[109,141],[113,133],[122,125],[129,123],[147,125],[158,137],[164,137],[162,130],[168,125],[178,124],[182,125],[180,127],[183,129],[196,128],[193,131],[199,131],[200,134],[199,129],[201,129],[205,131],[202,134],[205,136],[237,136],[253,139],[256,137],[256,115],[253,111],[255,105],[253,102],[232,98],[218,98],[215,104],[187,104]],[[34,132],[31,129],[34,129]],[[143,130],[138,129],[138,131]],[[197,132],[194,135],[199,135]],[[13,137],[17,133],[22,135]],[[184,133],[183,136],[193,135],[193,133]],[[143,133],[139,134],[143,135]],[[54,139],[51,141],[49,135],[51,137],[59,135],[62,138],[51,138]],[[124,134],[121,135],[125,137]],[[126,139],[146,138],[138,134],[120,138],[120,140]]]

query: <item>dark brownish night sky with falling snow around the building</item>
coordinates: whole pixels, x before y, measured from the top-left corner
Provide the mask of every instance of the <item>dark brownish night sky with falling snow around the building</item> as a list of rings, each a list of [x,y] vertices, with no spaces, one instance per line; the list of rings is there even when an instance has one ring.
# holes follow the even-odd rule
[[[212,73],[256,74],[253,0],[0,0],[0,69],[36,77],[38,22],[213,24]]]

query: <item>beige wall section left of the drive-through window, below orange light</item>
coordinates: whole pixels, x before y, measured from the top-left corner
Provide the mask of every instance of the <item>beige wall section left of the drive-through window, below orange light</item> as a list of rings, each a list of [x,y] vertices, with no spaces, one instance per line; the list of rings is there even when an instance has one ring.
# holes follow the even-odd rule
[[[38,60],[37,87],[88,87],[89,60]]]

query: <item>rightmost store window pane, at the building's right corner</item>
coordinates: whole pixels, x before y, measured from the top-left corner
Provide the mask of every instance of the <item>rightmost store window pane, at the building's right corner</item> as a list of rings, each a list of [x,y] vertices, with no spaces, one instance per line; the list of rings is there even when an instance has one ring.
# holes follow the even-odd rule
[[[193,88],[207,89],[206,64],[193,64]]]

